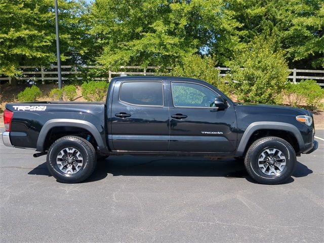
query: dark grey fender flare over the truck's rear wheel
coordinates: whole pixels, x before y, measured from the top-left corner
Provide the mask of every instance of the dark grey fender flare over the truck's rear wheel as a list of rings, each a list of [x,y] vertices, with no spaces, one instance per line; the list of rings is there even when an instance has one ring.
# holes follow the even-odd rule
[[[76,127],[86,129],[87,131],[89,131],[89,133],[92,134],[92,136],[96,140],[99,149],[106,149],[106,144],[103,141],[98,129],[92,123],[89,123],[89,121],[78,119],[51,119],[46,121],[41,132],[39,132],[36,144],[37,151],[44,151],[44,143],[46,136],[48,132],[55,127]]]

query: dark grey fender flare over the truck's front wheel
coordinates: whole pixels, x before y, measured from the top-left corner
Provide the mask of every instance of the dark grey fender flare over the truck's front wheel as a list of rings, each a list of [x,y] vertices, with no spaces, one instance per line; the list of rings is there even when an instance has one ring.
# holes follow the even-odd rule
[[[298,142],[299,149],[302,151],[305,147],[303,137],[299,132],[298,128],[289,123],[281,123],[278,121],[256,121],[255,123],[251,123],[247,129],[245,130],[238,146],[236,153],[237,155],[241,156],[244,154],[246,147],[248,145],[249,139],[251,138],[252,134],[257,130],[281,130],[287,131],[292,133]]]

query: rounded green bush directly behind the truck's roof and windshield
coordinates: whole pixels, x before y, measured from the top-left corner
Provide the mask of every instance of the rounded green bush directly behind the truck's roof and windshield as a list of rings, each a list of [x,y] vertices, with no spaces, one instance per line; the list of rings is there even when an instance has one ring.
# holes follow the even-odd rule
[[[229,94],[229,85],[224,83],[215,68],[216,62],[211,57],[201,58],[198,55],[185,57],[180,64],[170,72],[171,76],[192,77],[205,80],[225,94]]]

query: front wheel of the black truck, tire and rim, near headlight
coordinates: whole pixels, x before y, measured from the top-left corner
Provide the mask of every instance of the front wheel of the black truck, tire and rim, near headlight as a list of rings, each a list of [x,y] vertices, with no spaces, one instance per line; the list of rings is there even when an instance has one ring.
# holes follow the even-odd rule
[[[290,143],[278,137],[264,137],[249,147],[244,164],[255,181],[273,185],[290,178],[296,162],[296,152]]]

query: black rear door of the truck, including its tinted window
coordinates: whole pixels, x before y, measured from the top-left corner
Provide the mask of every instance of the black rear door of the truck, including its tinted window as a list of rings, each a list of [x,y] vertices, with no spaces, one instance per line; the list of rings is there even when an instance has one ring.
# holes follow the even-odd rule
[[[167,151],[169,108],[163,80],[125,79],[114,85],[111,107],[113,150]]]

